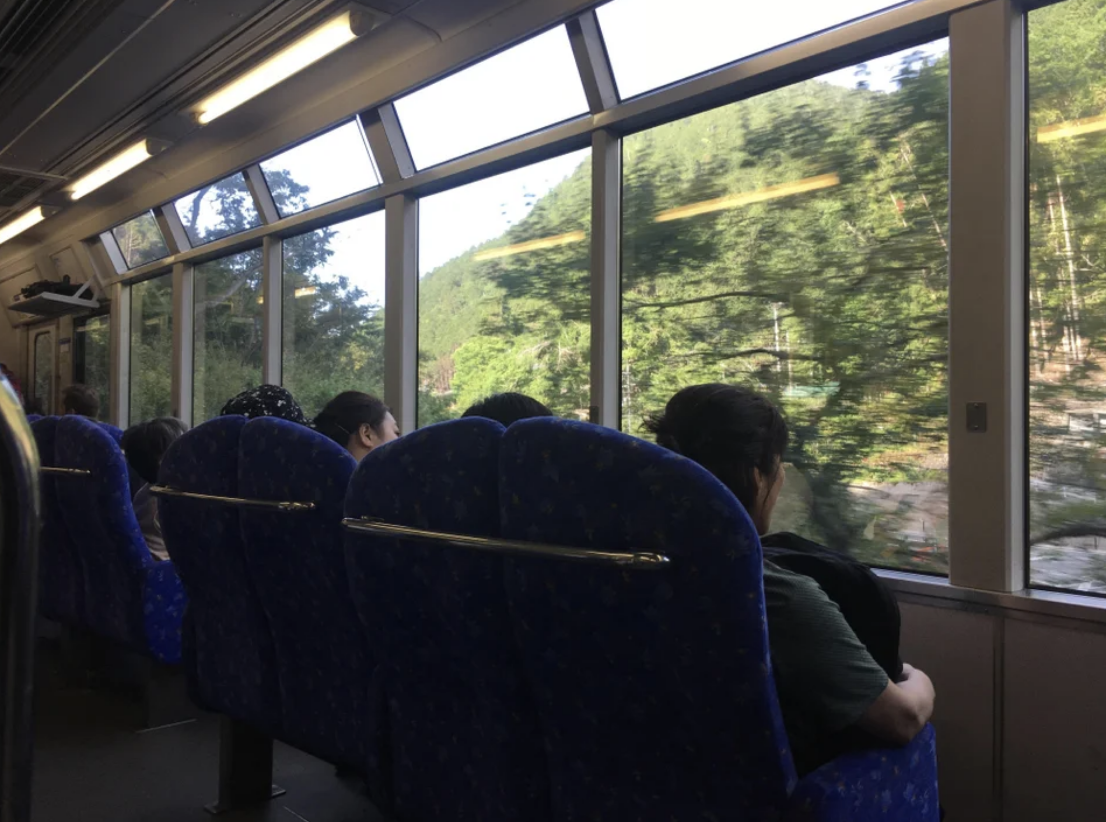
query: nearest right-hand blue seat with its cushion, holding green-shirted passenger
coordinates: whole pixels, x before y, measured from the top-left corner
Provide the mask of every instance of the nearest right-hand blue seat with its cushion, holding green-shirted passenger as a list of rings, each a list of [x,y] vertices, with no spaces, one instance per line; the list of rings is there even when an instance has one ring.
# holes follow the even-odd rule
[[[937,819],[931,730],[796,783],[769,657],[757,532],[699,466],[597,426],[502,444],[502,534],[661,552],[661,571],[512,558],[557,820]]]

